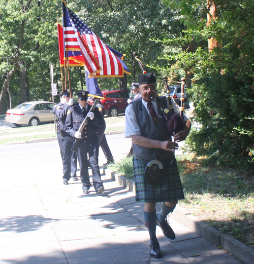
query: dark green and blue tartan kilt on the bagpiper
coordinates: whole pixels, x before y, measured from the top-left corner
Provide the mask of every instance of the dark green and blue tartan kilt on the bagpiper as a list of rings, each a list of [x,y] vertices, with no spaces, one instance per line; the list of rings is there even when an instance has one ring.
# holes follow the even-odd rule
[[[184,199],[177,163],[175,160],[172,165],[172,156],[170,157],[162,163],[165,176],[160,184],[151,184],[146,181],[144,177],[146,163],[133,157],[137,202],[157,203]]]

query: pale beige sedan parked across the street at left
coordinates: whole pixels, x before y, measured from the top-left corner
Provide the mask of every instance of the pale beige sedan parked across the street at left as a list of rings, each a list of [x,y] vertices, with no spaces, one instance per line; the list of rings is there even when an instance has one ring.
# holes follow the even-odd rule
[[[21,125],[38,126],[43,122],[54,121],[52,102],[32,101],[24,102],[7,110],[5,121],[13,123],[16,127]]]

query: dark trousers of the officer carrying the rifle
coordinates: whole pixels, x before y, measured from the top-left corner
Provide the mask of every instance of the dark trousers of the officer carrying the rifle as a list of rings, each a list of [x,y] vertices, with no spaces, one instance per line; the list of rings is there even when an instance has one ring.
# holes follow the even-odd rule
[[[88,162],[87,154],[89,157],[90,168],[92,170],[92,182],[93,187],[97,191],[100,186],[103,186],[100,167],[98,164],[98,154],[99,154],[99,141],[98,138],[93,141],[84,141],[81,139],[79,141],[78,147],[78,161],[80,167],[80,179],[82,181],[82,189],[89,190],[91,184],[88,173]]]

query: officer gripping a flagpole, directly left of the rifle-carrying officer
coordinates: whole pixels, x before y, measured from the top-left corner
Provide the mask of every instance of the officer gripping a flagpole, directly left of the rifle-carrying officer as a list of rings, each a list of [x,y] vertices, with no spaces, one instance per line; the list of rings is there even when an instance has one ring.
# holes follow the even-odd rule
[[[73,90],[72,90],[73,92]],[[59,145],[61,144],[60,148],[62,150],[62,172],[63,172],[63,184],[68,185],[69,180],[71,178],[74,181],[78,180],[77,178],[77,154],[75,152],[72,152],[72,146],[73,146],[73,137],[71,137],[68,133],[65,131],[65,122],[66,122],[66,116],[67,111],[73,106],[73,99],[70,98],[70,91],[64,90],[61,93],[59,93],[59,96],[61,98],[60,103],[58,103],[55,115],[57,117],[57,126],[59,127],[57,138],[59,137],[58,142],[60,141]]]

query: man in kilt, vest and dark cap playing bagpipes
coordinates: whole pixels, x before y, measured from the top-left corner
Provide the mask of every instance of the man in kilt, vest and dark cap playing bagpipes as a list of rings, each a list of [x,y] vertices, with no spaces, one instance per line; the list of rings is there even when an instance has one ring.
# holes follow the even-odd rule
[[[160,107],[157,107],[156,80],[153,72],[139,74],[138,79],[142,97],[132,101],[125,110],[125,137],[131,137],[133,140],[136,200],[145,203],[143,213],[150,235],[149,253],[151,257],[160,258],[162,253],[155,234],[156,224],[167,238],[175,239],[175,233],[166,217],[173,212],[177,201],[184,199],[176,160],[172,155],[178,148],[177,142],[187,137],[191,125],[184,116],[183,131],[174,135],[177,142],[171,141],[165,116]],[[162,99],[166,100],[166,97]],[[174,104],[173,100],[172,103]],[[151,163],[159,164],[160,171],[156,170],[155,174],[152,170],[149,171]],[[159,173],[162,178],[154,182]],[[162,207],[156,215],[157,202],[162,202]]]

